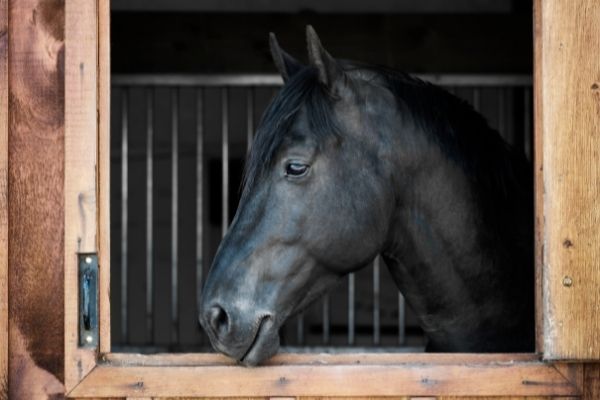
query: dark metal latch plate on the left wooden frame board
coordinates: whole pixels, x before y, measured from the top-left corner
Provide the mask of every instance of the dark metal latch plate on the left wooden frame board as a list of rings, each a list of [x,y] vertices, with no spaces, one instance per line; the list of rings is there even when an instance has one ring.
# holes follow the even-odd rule
[[[79,253],[79,346],[98,346],[98,255]]]

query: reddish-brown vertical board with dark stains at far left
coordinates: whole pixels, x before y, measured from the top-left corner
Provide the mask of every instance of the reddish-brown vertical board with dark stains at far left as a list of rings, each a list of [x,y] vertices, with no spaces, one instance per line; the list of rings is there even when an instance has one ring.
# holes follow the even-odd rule
[[[64,392],[64,4],[9,2],[9,398]]]

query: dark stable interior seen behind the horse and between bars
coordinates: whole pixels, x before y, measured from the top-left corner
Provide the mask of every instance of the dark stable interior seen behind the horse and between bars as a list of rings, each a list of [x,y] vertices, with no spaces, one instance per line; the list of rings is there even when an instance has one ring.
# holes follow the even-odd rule
[[[281,46],[306,60],[305,26],[311,24],[324,46],[337,58],[386,65],[423,74],[531,75],[531,2],[512,1],[507,12],[461,13],[293,13],[113,11],[111,15],[111,69],[113,75],[137,74],[274,74],[268,33],[276,33]],[[128,92],[128,231],[127,318],[121,318],[121,128],[123,90],[114,88],[111,109],[111,326],[112,342],[119,351],[209,350],[197,322],[196,274],[196,138],[195,93],[179,91],[178,180],[178,318],[172,318],[171,277],[171,121],[169,88],[154,91],[154,204],[152,310],[146,293],[146,105],[145,90]],[[235,214],[244,166],[245,105],[230,95],[229,217]],[[273,88],[256,89],[255,125]],[[455,93],[469,100],[470,93]],[[490,89],[491,90],[491,89]],[[490,108],[494,93],[482,91]],[[219,90],[204,91],[204,275],[221,238],[221,108]],[[522,96],[511,95],[508,136],[519,145],[523,132]],[[514,98],[513,98],[514,97]],[[239,104],[238,104],[239,103]],[[237,110],[237,111],[236,111]],[[239,116],[237,116],[239,111]],[[498,121],[489,117],[492,125]],[[504,123],[503,123],[504,124]],[[506,126],[506,124],[504,124]],[[523,145],[520,145],[523,146]],[[373,348],[371,268],[356,274],[353,346]],[[378,346],[398,347],[398,300],[395,285],[382,265],[380,340]],[[298,325],[290,321],[282,330],[284,346],[345,346],[348,343],[348,285],[329,297],[329,342],[323,343],[322,304],[307,310]],[[420,328],[406,310],[406,338],[402,346],[423,345]],[[150,317],[149,317],[150,315]],[[173,334],[173,331],[176,334]],[[299,336],[298,331],[302,334]],[[300,339],[301,338],[301,339]]]

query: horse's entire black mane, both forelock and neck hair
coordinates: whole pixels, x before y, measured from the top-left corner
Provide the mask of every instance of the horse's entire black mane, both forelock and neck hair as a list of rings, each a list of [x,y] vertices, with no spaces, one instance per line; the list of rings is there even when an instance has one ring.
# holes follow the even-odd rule
[[[494,227],[489,239],[500,235],[505,242],[510,240],[515,232],[514,227],[507,226],[510,221],[531,216],[532,174],[525,157],[507,144],[469,103],[444,89],[385,67],[346,62],[342,65],[345,70],[366,69],[382,78],[423,131],[464,169],[482,204],[485,223]],[[317,143],[337,135],[333,101],[319,83],[315,68],[305,67],[293,75],[263,115],[245,169],[245,189],[260,178],[286,137],[293,134],[290,128],[303,106],[309,134]],[[528,247],[531,232],[524,229],[519,236],[512,238],[521,244],[517,243],[518,247]]]

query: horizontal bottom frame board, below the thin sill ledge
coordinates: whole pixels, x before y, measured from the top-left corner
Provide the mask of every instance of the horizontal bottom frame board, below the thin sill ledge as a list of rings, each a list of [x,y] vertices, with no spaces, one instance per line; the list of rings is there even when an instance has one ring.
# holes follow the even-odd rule
[[[482,384],[485,382],[485,384]],[[272,365],[260,368],[96,367],[71,393],[88,396],[573,396],[542,362]]]

